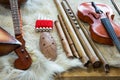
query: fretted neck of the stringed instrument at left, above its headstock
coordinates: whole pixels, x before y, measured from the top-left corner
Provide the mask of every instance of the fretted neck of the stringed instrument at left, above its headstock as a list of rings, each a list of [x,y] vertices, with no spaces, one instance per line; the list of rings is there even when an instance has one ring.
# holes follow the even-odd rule
[[[9,1],[10,1],[15,35],[20,35],[21,30],[20,30],[20,14],[18,9],[18,0],[9,0]]]

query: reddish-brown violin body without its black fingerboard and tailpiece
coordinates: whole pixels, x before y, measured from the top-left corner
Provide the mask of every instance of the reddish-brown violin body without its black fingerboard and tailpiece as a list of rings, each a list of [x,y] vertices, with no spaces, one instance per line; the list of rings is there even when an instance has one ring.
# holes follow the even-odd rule
[[[78,6],[77,16],[79,19],[90,24],[90,33],[94,41],[102,44],[112,45],[113,41],[109,37],[104,25],[101,23],[101,17],[107,17],[118,38],[120,38],[120,26],[113,22],[114,14],[112,9],[105,4],[96,4],[105,15],[97,14],[91,3],[82,3]]]

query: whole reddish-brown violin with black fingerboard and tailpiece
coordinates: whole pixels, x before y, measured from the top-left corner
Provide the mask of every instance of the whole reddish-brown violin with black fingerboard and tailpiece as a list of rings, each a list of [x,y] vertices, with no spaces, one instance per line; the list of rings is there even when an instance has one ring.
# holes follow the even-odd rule
[[[82,3],[78,6],[77,16],[90,24],[91,38],[102,44],[115,44],[120,51],[120,26],[113,22],[112,9],[105,4],[94,2]]]

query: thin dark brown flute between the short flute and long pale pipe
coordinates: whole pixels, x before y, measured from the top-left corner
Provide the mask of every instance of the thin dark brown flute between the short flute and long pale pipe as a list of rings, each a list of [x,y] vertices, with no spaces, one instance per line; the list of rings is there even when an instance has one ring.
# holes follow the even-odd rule
[[[66,36],[66,38],[67,38],[67,41],[68,41],[68,43],[69,43],[69,46],[70,46],[70,48],[71,48],[71,51],[73,52],[73,55],[74,55],[75,57],[77,57],[77,58],[80,58],[79,55],[78,55],[78,52],[77,52],[76,49],[75,49],[75,45],[74,45],[74,43],[73,43],[73,41],[72,41],[72,39],[71,39],[71,37],[70,37],[67,29],[66,29],[66,26],[65,26],[65,24],[64,24],[64,22],[63,22],[63,20],[62,20],[62,17],[61,17],[60,15],[58,15],[58,19],[59,19],[59,21],[60,21],[60,23],[61,23],[63,32],[64,32],[64,34],[65,34],[65,36]]]

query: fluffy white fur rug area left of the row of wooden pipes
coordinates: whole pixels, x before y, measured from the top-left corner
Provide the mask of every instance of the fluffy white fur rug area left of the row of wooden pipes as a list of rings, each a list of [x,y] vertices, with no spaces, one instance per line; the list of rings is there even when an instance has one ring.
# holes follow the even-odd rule
[[[23,20],[24,39],[27,51],[30,53],[33,63],[28,70],[14,68],[13,62],[17,55],[12,52],[0,57],[0,80],[53,80],[55,73],[60,73],[72,67],[83,67],[78,59],[68,59],[63,51],[58,34],[51,32],[57,43],[57,59],[47,60],[39,50],[40,33],[34,30],[38,14],[50,19],[57,19],[57,10],[53,0],[28,0],[21,7]],[[0,6],[0,26],[14,36],[11,12]]]

